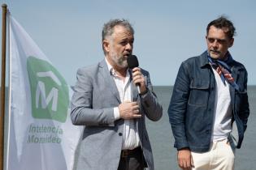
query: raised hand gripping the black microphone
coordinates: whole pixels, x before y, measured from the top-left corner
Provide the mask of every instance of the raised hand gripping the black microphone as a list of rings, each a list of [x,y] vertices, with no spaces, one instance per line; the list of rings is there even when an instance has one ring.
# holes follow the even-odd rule
[[[132,79],[134,84],[140,84],[139,87],[140,87],[141,93],[146,91],[145,79],[143,74],[141,73],[141,68],[135,67],[132,69]]]

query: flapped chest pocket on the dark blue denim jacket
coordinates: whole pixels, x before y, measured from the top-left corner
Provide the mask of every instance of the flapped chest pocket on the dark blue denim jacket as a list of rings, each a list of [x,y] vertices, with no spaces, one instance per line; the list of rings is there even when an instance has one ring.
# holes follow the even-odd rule
[[[189,104],[206,106],[210,91],[209,81],[193,79],[189,86]]]

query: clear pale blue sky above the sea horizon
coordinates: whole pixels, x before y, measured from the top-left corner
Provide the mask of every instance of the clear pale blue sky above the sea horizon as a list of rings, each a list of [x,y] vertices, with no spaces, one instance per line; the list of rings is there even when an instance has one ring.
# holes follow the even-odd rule
[[[206,26],[220,15],[236,27],[232,57],[256,85],[254,0],[1,0],[69,85],[76,70],[104,58],[101,32],[110,19],[128,19],[135,29],[133,54],[150,71],[153,85],[175,83],[180,63],[206,50]],[[2,23],[2,17],[1,17]],[[2,36],[2,35],[1,35]]]

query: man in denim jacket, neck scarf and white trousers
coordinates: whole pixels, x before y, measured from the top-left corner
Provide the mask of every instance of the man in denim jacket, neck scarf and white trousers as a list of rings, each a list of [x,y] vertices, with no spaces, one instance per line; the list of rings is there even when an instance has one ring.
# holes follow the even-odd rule
[[[168,114],[182,169],[234,169],[249,117],[247,71],[228,52],[235,31],[224,16],[211,21],[206,52],[180,66]]]

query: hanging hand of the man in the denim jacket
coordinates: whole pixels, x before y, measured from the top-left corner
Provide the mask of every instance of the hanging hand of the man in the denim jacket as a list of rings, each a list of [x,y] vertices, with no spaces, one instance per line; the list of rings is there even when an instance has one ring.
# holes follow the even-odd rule
[[[193,167],[193,158],[191,151],[186,148],[178,151],[177,154],[179,167],[183,170],[191,170]]]

